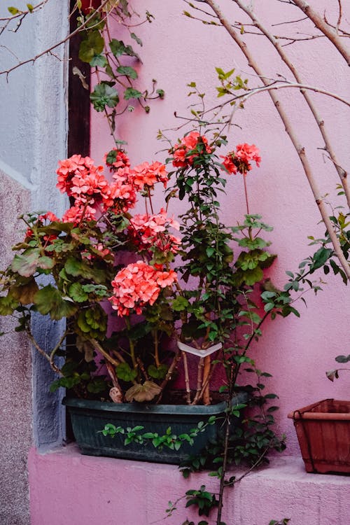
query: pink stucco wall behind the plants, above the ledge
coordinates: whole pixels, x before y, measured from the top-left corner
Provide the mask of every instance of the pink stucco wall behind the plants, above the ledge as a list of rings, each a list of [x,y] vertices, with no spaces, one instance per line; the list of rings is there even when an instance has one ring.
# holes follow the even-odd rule
[[[230,20],[246,22],[244,13],[232,2],[221,1],[220,4],[230,13]],[[335,19],[337,3],[314,2],[317,8],[321,8],[321,4],[328,6],[329,20]],[[333,11],[329,7],[331,4]],[[144,2],[139,0],[134,5],[142,15]],[[183,120],[176,120],[174,111],[179,116],[188,116],[188,105],[193,99],[187,97],[190,88],[186,85],[191,81],[194,80],[199,89],[207,94],[208,108],[220,101],[216,99],[218,80],[215,66],[225,71],[235,67],[237,74],[248,78],[249,85],[257,84],[244,56],[222,28],[208,27],[181,14],[186,9],[186,3],[181,0],[149,0],[146,7],[155,15],[155,21],[152,25],[141,25],[135,29],[144,42],[139,50],[144,65],[137,66],[140,85],[151,85],[151,79],[156,78],[158,87],[162,87],[166,95],[164,101],[151,104],[149,115],[137,109],[132,116],[128,114],[118,120],[117,134],[128,141],[127,151],[134,165],[144,160],[165,158],[165,153],[156,155],[166,147],[156,140],[157,132],[183,124]],[[288,25],[272,25],[302,18],[295,7],[286,3],[260,0],[254,8],[261,20],[272,28],[273,34],[286,34],[291,29]],[[350,11],[347,5],[343,8]],[[298,22],[295,30],[312,33],[311,25],[305,25],[305,22]],[[115,28],[116,37],[120,38],[118,31],[120,29]],[[125,34],[122,36],[124,38]],[[292,78],[286,67],[281,65],[272,45],[264,38],[248,34],[245,38],[267,76],[276,78],[281,74]],[[295,43],[285,50],[299,67],[305,83],[343,96],[349,95],[346,63],[324,39]],[[312,97],[334,138],[340,164],[349,167],[349,107],[321,94],[313,93]],[[284,89],[279,91],[279,99],[285,104],[301,144],[306,148],[321,195],[330,193],[328,198],[333,204],[344,205],[342,199],[334,198],[339,179],[323,152],[317,149],[323,146],[321,135],[300,92]],[[256,144],[261,151],[260,169],[253,169],[247,177],[251,212],[262,214],[265,222],[274,227],[272,251],[279,257],[269,270],[269,276],[276,286],[283,286],[287,280],[284,272],[295,271],[302,258],[313,253],[312,246],[307,246],[307,236],[321,237],[324,228],[318,225],[320,216],[311,190],[268,95],[258,94],[251,98],[244,110],[235,112],[232,122],[241,127],[231,128],[228,136],[230,145],[246,141]],[[167,134],[176,138],[186,130],[188,128]],[[92,158],[102,160],[111,146],[113,141],[106,122],[93,113]],[[223,221],[230,224],[240,221],[245,213],[243,184],[238,176],[230,177],[222,209]],[[279,395],[281,410],[276,419],[279,430],[288,435],[288,451],[293,454],[297,454],[298,447],[293,423],[286,419],[286,414],[321,398],[349,397],[346,377],[335,384],[325,377],[325,370],[335,365],[334,357],[350,351],[349,286],[344,286],[339,276],[329,274],[325,277],[323,273],[319,276],[325,281],[323,291],[317,297],[313,293],[305,295],[307,308],[299,303],[301,318],[290,316],[270,321],[265,325],[264,337],[253,349],[258,366],[273,374],[268,387]]]

